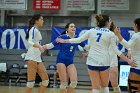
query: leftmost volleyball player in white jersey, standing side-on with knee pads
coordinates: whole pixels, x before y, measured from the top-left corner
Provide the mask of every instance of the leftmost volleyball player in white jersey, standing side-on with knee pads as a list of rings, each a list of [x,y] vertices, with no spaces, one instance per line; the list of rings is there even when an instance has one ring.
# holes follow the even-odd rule
[[[27,62],[27,87],[25,93],[31,93],[35,84],[36,73],[42,79],[38,93],[45,93],[46,86],[49,83],[46,68],[41,60],[41,52],[44,52],[41,46],[42,36],[39,31],[43,26],[43,16],[36,14],[29,21],[29,31],[26,39],[28,40],[29,48],[25,56]]]

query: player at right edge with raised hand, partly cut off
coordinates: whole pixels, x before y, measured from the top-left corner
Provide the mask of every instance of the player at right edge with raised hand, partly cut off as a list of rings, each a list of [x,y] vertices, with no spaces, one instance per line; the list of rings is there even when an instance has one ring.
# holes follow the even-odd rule
[[[131,84],[131,80],[135,81],[135,84],[132,84],[132,86],[136,87],[134,90],[129,90],[131,93],[139,93],[140,92],[140,18],[137,18],[134,20],[134,31],[132,38],[127,42],[119,31],[115,31],[116,35],[118,36],[121,43],[123,43],[126,47],[131,48],[131,58],[136,61],[137,66],[130,68],[130,74],[129,74],[129,83]],[[136,82],[139,82],[136,84]],[[131,86],[129,87],[131,88]]]

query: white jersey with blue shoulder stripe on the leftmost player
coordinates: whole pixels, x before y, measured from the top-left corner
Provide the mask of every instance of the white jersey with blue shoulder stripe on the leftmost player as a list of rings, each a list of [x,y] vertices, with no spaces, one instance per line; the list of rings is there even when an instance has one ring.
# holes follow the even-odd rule
[[[42,36],[38,29],[32,27],[29,31],[28,44],[29,48],[25,56],[25,60],[33,60],[36,62],[42,62],[41,52],[38,48],[33,47],[34,44],[41,44]]]

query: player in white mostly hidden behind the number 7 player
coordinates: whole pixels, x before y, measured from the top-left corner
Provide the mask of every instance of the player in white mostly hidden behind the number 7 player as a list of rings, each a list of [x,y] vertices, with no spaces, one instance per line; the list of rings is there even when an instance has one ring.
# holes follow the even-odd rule
[[[110,31],[114,32],[116,26],[112,22],[110,25]],[[116,37],[116,45],[118,45],[119,40]],[[118,85],[118,57],[114,53],[112,46],[109,47],[109,54],[110,54],[110,77],[109,80],[113,87],[113,93],[121,93],[120,87]]]

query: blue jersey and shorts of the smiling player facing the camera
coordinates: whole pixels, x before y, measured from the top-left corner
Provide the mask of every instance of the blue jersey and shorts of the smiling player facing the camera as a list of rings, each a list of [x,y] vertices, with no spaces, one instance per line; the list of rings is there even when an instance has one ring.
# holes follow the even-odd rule
[[[59,36],[59,38],[63,39],[70,39],[70,37],[67,34]],[[75,36],[77,38],[77,36]],[[85,43],[79,43],[79,44],[69,44],[69,43],[57,43],[56,41],[53,41],[50,44],[46,44],[47,49],[51,49],[56,45],[60,45],[60,51],[57,55],[56,63],[64,63],[66,66],[69,66],[70,64],[73,64],[74,59],[74,53],[75,50],[78,48],[78,45],[84,47]]]

